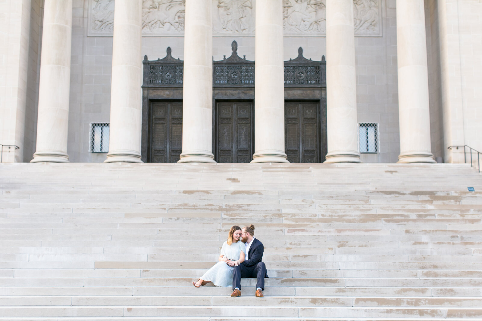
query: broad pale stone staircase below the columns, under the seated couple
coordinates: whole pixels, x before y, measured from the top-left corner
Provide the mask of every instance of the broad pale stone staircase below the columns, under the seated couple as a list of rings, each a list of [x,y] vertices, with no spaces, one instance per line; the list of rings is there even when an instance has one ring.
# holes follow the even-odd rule
[[[0,320],[482,320],[480,191],[455,164],[0,164]],[[264,298],[191,285],[234,224]]]

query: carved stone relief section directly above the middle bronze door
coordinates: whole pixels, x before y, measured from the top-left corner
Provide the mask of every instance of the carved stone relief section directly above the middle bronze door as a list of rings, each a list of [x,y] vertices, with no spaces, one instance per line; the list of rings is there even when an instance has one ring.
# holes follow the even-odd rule
[[[242,33],[250,27],[251,0],[218,0],[217,8],[223,31]]]

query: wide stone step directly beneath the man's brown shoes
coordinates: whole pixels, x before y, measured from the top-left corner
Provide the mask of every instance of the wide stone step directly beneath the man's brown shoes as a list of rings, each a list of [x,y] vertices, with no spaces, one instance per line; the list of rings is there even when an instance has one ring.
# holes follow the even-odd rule
[[[480,307],[479,298],[447,297],[355,297],[355,296],[279,296],[259,298],[242,291],[242,304],[247,306],[306,307]],[[232,306],[238,298],[227,295],[64,295],[64,296],[0,296],[0,306]]]

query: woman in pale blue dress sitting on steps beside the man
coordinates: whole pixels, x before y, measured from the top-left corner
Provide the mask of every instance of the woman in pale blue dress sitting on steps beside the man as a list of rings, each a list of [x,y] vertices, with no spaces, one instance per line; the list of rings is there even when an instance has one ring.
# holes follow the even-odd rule
[[[235,225],[229,230],[228,241],[223,243],[219,262],[204,273],[198,282],[192,284],[198,288],[209,282],[215,286],[231,286],[234,267],[244,262],[245,249],[241,240],[241,228]]]

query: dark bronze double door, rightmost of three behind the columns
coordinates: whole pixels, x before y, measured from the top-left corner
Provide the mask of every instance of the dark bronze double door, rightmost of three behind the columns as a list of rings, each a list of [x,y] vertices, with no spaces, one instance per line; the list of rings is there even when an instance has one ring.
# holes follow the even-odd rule
[[[321,163],[317,103],[284,104],[284,145],[290,163]]]

